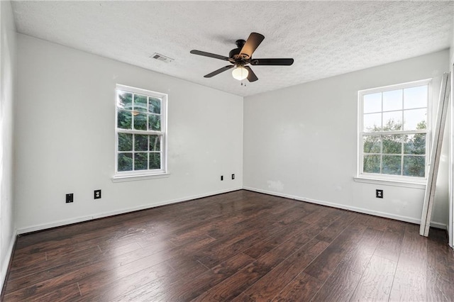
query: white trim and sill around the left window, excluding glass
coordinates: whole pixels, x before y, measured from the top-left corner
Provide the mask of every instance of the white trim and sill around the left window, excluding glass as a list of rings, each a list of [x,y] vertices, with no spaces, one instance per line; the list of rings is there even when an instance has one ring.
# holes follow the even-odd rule
[[[116,84],[115,91],[115,100],[118,101],[118,90],[128,91],[135,94],[145,94],[147,96],[156,96],[161,101],[161,131],[153,130],[119,130],[118,129],[118,108],[115,103],[115,171],[114,176],[112,177],[113,182],[119,181],[134,181],[134,180],[143,180],[143,179],[155,179],[168,177],[170,173],[167,170],[167,94],[162,94],[157,91],[150,91],[146,89],[140,89],[132,86],[126,86],[121,84]],[[133,133],[133,134],[148,134],[153,135],[159,134],[162,135],[162,140],[160,143],[161,147],[161,165],[162,169],[153,169],[153,170],[140,170],[140,171],[127,171],[127,172],[118,172],[118,133]]]

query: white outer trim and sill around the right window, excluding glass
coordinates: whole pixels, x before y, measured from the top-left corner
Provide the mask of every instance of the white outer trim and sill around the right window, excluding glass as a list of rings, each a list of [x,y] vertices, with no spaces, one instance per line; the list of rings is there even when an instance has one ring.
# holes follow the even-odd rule
[[[365,94],[373,94],[376,92],[392,91],[396,89],[406,89],[415,86],[428,85],[428,104],[427,104],[427,129],[426,131],[414,130],[414,133],[427,133],[426,134],[426,177],[405,177],[401,175],[388,175],[388,174],[372,174],[362,172],[362,136],[365,132],[362,131],[362,118],[363,118],[363,102],[362,96]],[[414,82],[406,82],[402,84],[394,84],[389,86],[382,86],[372,89],[364,89],[358,91],[358,130],[357,130],[357,173],[353,177],[355,181],[365,182],[370,184],[384,184],[389,186],[405,186],[417,189],[426,187],[428,166],[430,164],[430,146],[431,146],[431,128],[432,128],[432,79],[422,79]],[[400,134],[400,131],[386,131],[386,134]],[[367,135],[379,135],[383,133],[367,133]]]

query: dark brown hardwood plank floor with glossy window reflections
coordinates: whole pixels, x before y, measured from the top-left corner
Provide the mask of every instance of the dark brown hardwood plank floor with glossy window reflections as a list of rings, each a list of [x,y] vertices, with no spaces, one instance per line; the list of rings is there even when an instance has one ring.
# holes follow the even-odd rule
[[[4,301],[453,301],[445,231],[235,191],[18,237]]]

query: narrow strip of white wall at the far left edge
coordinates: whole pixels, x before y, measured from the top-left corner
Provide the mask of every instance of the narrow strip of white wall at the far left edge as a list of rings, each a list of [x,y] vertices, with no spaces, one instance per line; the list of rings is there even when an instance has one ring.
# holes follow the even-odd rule
[[[0,1],[0,291],[13,250],[13,103],[16,28],[9,1]]]

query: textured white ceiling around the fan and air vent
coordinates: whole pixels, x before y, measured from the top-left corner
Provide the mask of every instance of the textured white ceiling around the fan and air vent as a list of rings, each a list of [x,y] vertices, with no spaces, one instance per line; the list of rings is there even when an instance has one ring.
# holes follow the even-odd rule
[[[452,1],[13,1],[19,33],[249,96],[404,60],[450,46]],[[253,57],[293,57],[255,66],[241,86],[208,74],[249,33],[265,35]],[[158,52],[175,61],[150,59]]]

